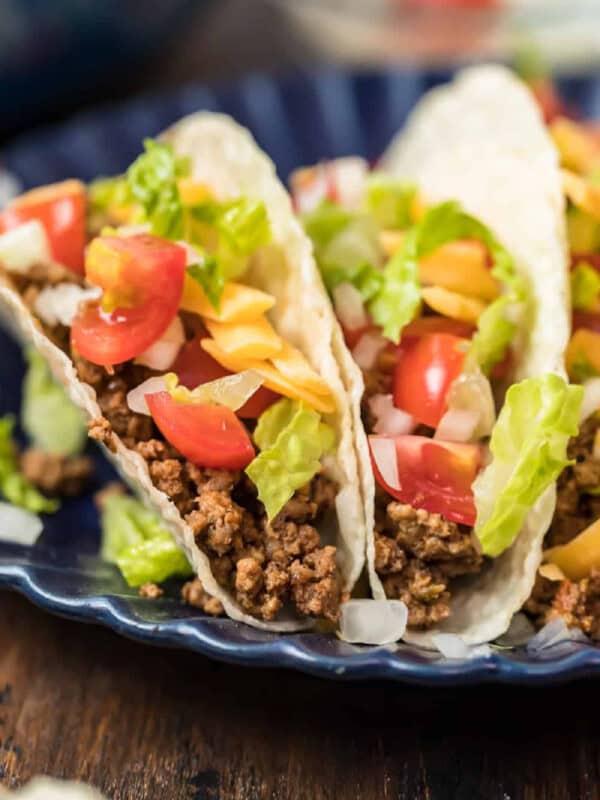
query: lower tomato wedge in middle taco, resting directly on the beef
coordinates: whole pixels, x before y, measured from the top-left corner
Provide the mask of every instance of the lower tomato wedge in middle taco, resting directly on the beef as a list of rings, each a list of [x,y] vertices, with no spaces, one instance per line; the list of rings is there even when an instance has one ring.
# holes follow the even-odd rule
[[[386,437],[370,436],[369,440],[376,438]],[[379,485],[401,503],[441,514],[452,522],[474,525],[471,487],[482,466],[481,447],[410,435],[396,436],[394,443],[400,488],[392,488],[383,480],[371,452]]]

